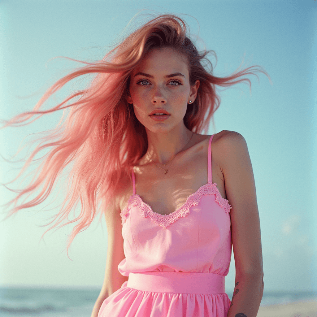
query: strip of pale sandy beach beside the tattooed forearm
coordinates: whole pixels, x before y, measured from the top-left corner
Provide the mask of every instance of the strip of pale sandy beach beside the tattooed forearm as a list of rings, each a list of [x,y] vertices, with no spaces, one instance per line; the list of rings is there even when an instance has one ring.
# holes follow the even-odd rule
[[[257,317],[317,317],[317,299],[259,308]]]

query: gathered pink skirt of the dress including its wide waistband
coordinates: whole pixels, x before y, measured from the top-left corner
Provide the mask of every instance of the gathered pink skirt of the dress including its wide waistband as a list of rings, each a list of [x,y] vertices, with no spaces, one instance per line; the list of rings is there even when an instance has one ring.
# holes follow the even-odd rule
[[[227,317],[230,304],[223,275],[130,273],[103,301],[98,317]]]

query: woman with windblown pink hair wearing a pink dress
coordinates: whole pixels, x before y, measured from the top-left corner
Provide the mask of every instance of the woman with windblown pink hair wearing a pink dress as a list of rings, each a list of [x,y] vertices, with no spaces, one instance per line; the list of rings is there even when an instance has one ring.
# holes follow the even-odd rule
[[[41,203],[72,163],[65,204],[50,223],[58,217],[52,228],[61,223],[80,200],[80,215],[68,222],[79,221],[68,250],[97,211],[106,218],[106,273],[92,317],[256,317],[260,306],[260,221],[245,139],[226,130],[200,134],[220,104],[216,85],[249,81],[238,78],[253,73],[213,76],[212,65],[210,72],[202,65],[208,52],[197,52],[186,32],[178,16],[155,17],[102,61],[57,81],[34,111],[8,122],[70,108],[50,141],[30,156],[27,164],[52,148],[12,203],[42,191],[11,214]],[[97,75],[87,89],[39,110],[69,80],[89,73]],[[224,282],[232,246],[230,301]]]

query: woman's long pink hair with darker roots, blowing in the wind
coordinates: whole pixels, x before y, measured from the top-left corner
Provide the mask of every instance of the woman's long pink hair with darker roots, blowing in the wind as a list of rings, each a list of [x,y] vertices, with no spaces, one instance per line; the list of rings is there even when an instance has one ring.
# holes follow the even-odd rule
[[[34,161],[36,154],[49,150],[41,158],[41,164],[35,170],[36,176],[29,185],[22,190],[12,190],[18,194],[6,204],[14,205],[7,217],[20,209],[42,203],[66,167],[69,174],[64,203],[46,226],[56,221],[48,229],[51,230],[57,225],[60,225],[58,229],[69,223],[77,223],[68,239],[67,254],[74,237],[87,229],[96,213],[101,210],[101,218],[104,207],[107,206],[110,210],[114,206],[116,193],[120,193],[122,189],[122,179],[129,177],[131,180],[131,168],[146,153],[148,147],[145,127],[137,120],[133,105],[126,102],[125,96],[129,93],[131,72],[150,49],[176,49],[187,60],[191,85],[199,79],[197,98],[187,106],[184,117],[184,125],[195,133],[208,131],[210,119],[213,120],[213,114],[220,105],[216,85],[228,87],[248,81],[251,90],[250,80],[241,77],[254,74],[251,72],[253,67],[253,71],[268,76],[258,65],[256,66],[259,69],[256,66],[249,67],[228,77],[213,76],[212,64],[205,56],[214,51],[198,52],[189,36],[186,36],[187,30],[186,23],[176,15],[156,16],[127,36],[101,61],[80,61],[86,66],[77,68],[58,80],[46,91],[33,111],[5,121],[5,126],[22,126],[28,124],[23,122],[31,118],[33,120],[30,122],[33,122],[45,113],[68,108],[67,116],[63,116],[60,124],[48,137],[42,138],[17,176],[19,178]],[[211,71],[207,71],[202,62],[210,63]],[[95,74],[89,87],[74,92],[47,111],[40,110],[42,104],[68,81],[85,74]],[[74,102],[70,103],[70,100]],[[41,191],[35,198],[26,202],[24,199],[23,203],[18,204],[19,199],[29,197],[36,190]],[[69,220],[69,213],[78,203],[81,204],[80,214],[77,217],[74,214],[75,218]],[[62,224],[65,219],[69,221]]]

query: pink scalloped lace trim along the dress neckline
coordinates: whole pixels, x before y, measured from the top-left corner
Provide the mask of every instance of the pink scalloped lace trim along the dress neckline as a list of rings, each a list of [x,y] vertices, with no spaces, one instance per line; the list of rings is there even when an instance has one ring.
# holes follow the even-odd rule
[[[137,206],[141,211],[142,218],[149,217],[154,223],[166,229],[166,227],[169,227],[171,223],[174,223],[180,217],[186,217],[190,212],[189,208],[191,206],[197,206],[200,202],[200,198],[203,195],[211,194],[215,195],[216,202],[228,214],[231,209],[229,201],[221,196],[217,188],[217,183],[212,184],[211,182],[208,182],[207,184],[199,187],[197,191],[189,195],[182,206],[168,215],[161,215],[157,212],[154,212],[152,207],[149,204],[146,204],[138,194],[132,194],[127,202],[126,207],[120,212],[122,225],[126,222],[129,210]]]

